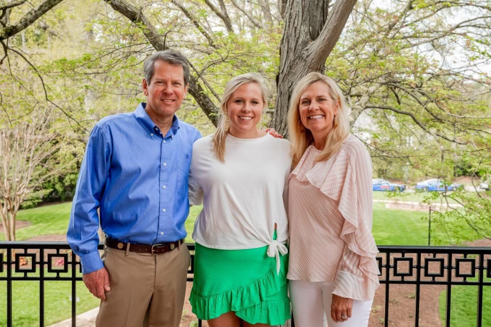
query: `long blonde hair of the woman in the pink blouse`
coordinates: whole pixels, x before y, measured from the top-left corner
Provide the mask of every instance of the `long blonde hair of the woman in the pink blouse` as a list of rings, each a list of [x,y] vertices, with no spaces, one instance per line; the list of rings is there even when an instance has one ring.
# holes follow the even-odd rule
[[[312,133],[303,126],[300,120],[300,96],[307,87],[315,82],[323,82],[329,89],[329,96],[334,104],[339,105],[338,113],[334,117],[332,129],[326,137],[326,145],[321,153],[317,156],[316,161],[324,161],[336,154],[341,148],[344,140],[350,134],[350,109],[346,105],[343,93],[336,82],[331,78],[317,72],[307,74],[302,78],[293,89],[290,99],[290,108],[288,110],[288,133],[292,143],[292,166],[295,167],[307,147],[314,143]]]

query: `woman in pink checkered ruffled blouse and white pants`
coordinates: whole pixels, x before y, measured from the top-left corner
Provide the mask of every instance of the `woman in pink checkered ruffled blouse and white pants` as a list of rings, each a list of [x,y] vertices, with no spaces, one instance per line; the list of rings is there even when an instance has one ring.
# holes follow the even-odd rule
[[[379,285],[372,228],[372,162],[350,135],[349,109],[330,78],[310,73],[288,112],[290,297],[295,325],[366,327]]]

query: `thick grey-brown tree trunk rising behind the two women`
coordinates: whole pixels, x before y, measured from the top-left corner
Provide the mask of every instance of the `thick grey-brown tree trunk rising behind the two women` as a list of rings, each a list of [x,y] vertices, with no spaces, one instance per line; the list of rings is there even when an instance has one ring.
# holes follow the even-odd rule
[[[277,97],[272,127],[288,135],[287,112],[295,84],[310,72],[324,72],[356,0],[337,0],[328,14],[328,0],[287,0],[285,27],[276,76]]]

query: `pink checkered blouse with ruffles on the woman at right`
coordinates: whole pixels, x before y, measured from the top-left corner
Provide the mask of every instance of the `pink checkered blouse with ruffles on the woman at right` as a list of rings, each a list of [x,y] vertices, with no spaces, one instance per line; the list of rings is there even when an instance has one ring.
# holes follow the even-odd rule
[[[372,236],[372,161],[348,136],[327,161],[310,145],[290,173],[288,279],[334,281],[332,293],[372,300],[379,286]]]

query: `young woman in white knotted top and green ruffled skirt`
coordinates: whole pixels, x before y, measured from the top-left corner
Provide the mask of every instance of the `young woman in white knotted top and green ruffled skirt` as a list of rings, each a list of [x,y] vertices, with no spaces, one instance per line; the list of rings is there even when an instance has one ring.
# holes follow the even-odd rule
[[[196,218],[192,312],[210,327],[282,325],[287,296],[290,143],[256,127],[267,108],[257,74],[229,81],[218,130],[193,145]]]

